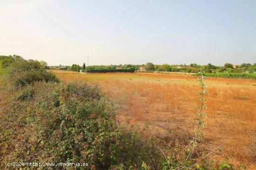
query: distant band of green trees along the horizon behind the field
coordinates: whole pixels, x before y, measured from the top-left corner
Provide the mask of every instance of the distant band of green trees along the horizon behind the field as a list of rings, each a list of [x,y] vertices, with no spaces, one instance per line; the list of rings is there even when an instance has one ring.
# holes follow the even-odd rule
[[[18,55],[13,56],[0,56],[0,69],[8,67],[13,61],[17,58],[22,58]],[[169,65],[164,63],[162,65],[146,63],[146,64],[119,64],[119,65],[92,65],[87,66],[85,63],[80,66],[79,64],[72,64],[71,66],[47,66],[45,61],[40,61],[41,65],[44,66],[45,69],[66,69],[70,71],[79,72],[80,69],[85,70],[97,70],[97,69],[134,69],[139,70],[141,67],[142,70],[145,71],[167,71],[167,72],[186,72],[186,73],[197,73],[199,70],[204,70],[206,73],[255,73],[256,72],[256,63],[242,63],[237,68],[233,68],[232,63],[225,63],[223,66],[216,66],[211,63],[207,65],[199,65],[196,63],[191,63],[187,65],[186,63],[182,64],[173,64]]]

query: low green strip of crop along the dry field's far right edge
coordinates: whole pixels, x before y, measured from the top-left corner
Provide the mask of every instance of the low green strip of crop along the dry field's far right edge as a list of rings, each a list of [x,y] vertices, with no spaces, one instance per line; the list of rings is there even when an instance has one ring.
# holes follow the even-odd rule
[[[200,76],[200,74],[194,74],[192,76]],[[226,77],[226,78],[252,78],[256,79],[254,73],[205,73],[208,77]]]

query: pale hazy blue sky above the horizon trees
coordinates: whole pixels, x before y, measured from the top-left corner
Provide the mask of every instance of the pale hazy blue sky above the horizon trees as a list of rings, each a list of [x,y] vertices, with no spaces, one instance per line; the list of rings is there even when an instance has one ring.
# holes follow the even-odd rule
[[[48,65],[256,63],[256,0],[0,0],[0,55]]]

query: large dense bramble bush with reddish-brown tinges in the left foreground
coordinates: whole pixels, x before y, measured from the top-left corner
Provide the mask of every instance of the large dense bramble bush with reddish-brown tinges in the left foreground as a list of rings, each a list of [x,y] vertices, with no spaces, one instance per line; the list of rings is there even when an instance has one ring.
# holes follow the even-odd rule
[[[89,163],[107,170],[148,160],[147,146],[116,123],[110,101],[97,87],[36,82],[19,93],[3,121],[8,126],[0,128],[10,134],[3,161]]]

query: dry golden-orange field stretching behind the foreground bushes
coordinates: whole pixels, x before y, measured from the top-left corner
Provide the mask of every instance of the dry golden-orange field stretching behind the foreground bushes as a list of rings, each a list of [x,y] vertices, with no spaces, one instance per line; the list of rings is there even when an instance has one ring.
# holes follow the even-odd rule
[[[122,104],[117,114],[121,124],[141,129],[148,124],[163,144],[188,142],[193,136],[200,86],[189,74],[53,72],[64,82],[99,84]],[[207,78],[205,82],[209,94],[204,146],[210,152],[221,145],[210,157],[256,168],[256,81]]]

